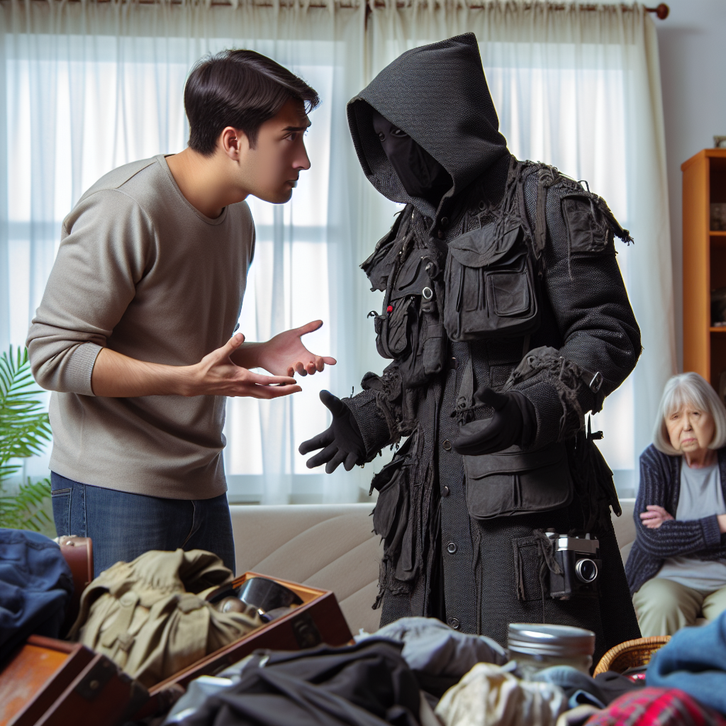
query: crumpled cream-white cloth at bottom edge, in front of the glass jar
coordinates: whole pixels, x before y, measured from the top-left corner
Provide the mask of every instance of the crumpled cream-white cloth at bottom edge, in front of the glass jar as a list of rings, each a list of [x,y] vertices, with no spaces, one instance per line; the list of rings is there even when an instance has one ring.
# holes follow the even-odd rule
[[[436,706],[444,726],[554,726],[568,709],[552,683],[522,681],[501,666],[478,663]]]

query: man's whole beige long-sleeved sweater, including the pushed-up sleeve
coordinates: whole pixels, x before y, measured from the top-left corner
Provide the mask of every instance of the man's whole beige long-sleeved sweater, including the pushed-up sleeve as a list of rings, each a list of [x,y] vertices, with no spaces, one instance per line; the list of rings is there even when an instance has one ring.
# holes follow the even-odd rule
[[[33,375],[54,391],[54,472],[172,499],[227,490],[224,396],[105,398],[91,372],[102,347],[182,366],[224,345],[254,243],[245,202],[208,219],[163,156],[121,166],[81,197],[28,333]]]

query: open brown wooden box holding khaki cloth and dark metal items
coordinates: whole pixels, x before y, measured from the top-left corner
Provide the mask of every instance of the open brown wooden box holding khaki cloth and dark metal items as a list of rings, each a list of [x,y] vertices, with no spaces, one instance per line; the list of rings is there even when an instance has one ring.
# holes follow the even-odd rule
[[[245,572],[234,579],[234,587],[238,587],[250,577],[267,577],[267,575]],[[195,678],[217,674],[237,661],[241,661],[242,658],[258,648],[302,650],[303,648],[314,648],[320,643],[346,645],[351,642],[353,636],[343,613],[340,612],[335,593],[297,582],[287,582],[287,580],[277,577],[271,579],[293,590],[301,598],[303,604],[295,608],[293,612],[253,630],[249,635],[216,650],[174,674],[171,678],[155,685],[150,689],[150,701],[142,711],[136,714],[136,718],[147,717],[158,711],[160,696],[163,698],[163,692],[168,691],[174,685],[186,688],[189,682]]]

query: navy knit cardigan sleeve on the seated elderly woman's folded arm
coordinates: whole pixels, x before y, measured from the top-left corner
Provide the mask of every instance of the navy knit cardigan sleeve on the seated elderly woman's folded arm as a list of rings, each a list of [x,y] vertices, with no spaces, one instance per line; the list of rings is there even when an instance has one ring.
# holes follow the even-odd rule
[[[640,547],[660,560],[719,547],[722,538],[715,514],[702,519],[672,519],[657,529],[648,529],[640,521],[640,514],[647,511],[648,505],[663,507],[675,516],[668,494],[669,488],[675,484],[671,481],[674,470],[669,463],[669,457],[658,456],[653,446],[645,449],[640,457],[640,487],[633,511]]]

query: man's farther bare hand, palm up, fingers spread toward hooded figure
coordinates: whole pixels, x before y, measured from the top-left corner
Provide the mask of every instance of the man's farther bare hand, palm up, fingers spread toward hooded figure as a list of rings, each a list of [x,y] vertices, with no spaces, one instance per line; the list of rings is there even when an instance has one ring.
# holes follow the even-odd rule
[[[264,368],[272,375],[313,375],[326,365],[335,365],[335,358],[317,356],[305,346],[301,337],[322,326],[322,320],[285,330],[266,343],[245,343],[232,356],[232,360],[245,368]]]

